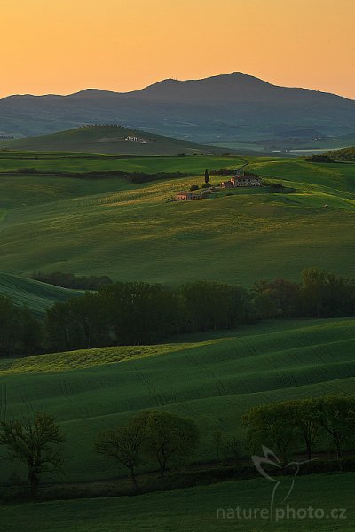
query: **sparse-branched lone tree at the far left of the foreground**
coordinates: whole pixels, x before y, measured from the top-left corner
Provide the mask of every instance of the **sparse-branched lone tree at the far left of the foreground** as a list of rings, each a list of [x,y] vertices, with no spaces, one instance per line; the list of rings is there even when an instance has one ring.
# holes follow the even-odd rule
[[[0,444],[10,451],[9,459],[28,467],[29,497],[36,498],[41,476],[62,465],[64,436],[60,426],[45,412],[34,419],[2,421]]]

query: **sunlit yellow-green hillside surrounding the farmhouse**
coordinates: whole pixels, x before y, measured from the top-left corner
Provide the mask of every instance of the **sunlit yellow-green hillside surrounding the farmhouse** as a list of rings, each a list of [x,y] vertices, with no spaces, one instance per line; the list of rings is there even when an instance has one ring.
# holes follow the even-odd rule
[[[32,154],[32,157],[36,156]],[[250,286],[259,278],[298,279],[318,265],[353,275],[355,164],[255,158],[250,168],[284,192],[218,192],[207,200],[167,200],[201,184],[205,168],[238,168],[233,157],[0,157],[0,172],[183,171],[148,184],[123,177],[0,176],[2,270],[107,274],[116,280],[176,285],[193,279]],[[214,177],[217,184],[220,178]],[[296,192],[288,193],[294,188]],[[324,209],[323,205],[330,208]]]

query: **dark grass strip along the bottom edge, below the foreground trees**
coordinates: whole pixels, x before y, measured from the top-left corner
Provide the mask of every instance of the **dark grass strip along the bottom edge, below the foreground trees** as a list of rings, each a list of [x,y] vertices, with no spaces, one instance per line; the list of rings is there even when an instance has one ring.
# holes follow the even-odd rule
[[[7,506],[2,510],[2,525],[6,530],[23,528],[28,532],[352,532],[354,482],[354,473],[300,477],[288,499],[291,508],[311,505],[322,508],[326,515],[334,508],[344,508],[347,512],[343,520],[288,519],[272,525],[260,514],[256,520],[217,520],[217,508],[233,508],[235,512],[237,507],[269,508],[271,482],[260,478],[140,497]]]

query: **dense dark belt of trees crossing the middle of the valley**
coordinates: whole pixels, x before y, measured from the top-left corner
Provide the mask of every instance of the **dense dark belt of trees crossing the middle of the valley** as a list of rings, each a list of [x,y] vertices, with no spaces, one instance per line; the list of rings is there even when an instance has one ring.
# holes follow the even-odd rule
[[[319,268],[304,270],[300,283],[262,280],[250,290],[210,281],[177,288],[112,283],[57,302],[43,322],[1,296],[0,354],[154,344],[173,334],[234,329],[263,318],[354,314],[355,279]]]

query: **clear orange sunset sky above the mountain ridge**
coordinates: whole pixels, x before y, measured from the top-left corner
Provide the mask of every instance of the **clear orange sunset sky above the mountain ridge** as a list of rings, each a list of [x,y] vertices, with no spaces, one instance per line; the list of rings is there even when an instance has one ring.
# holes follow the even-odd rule
[[[1,0],[0,97],[240,71],[355,98],[354,0]]]

